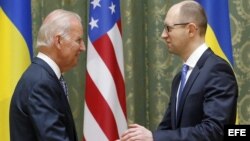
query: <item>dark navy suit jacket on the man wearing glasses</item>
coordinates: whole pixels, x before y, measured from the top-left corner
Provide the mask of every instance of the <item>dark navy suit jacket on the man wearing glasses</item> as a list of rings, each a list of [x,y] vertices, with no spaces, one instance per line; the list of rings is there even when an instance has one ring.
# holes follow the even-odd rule
[[[220,141],[226,124],[235,124],[238,85],[231,66],[207,49],[184,87],[178,113],[176,94],[181,73],[154,141]],[[176,116],[177,115],[177,116]]]

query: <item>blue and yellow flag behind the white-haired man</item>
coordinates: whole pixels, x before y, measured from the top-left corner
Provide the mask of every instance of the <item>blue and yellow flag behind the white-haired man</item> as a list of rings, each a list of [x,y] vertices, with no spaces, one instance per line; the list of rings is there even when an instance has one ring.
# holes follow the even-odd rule
[[[9,141],[10,99],[31,63],[31,0],[0,0],[0,141]]]

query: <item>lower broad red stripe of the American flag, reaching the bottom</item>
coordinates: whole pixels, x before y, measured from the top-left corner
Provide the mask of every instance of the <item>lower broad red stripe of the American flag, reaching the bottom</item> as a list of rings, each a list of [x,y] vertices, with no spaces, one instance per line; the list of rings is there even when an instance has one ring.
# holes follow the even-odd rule
[[[119,135],[114,115],[88,72],[86,74],[85,99],[89,111],[93,114],[107,138],[110,141],[118,139]]]

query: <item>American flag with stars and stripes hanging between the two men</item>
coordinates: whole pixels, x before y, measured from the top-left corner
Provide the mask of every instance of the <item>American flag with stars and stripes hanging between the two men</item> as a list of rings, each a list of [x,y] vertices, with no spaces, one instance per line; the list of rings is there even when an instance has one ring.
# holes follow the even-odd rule
[[[114,141],[127,129],[120,1],[89,10],[83,140]]]

